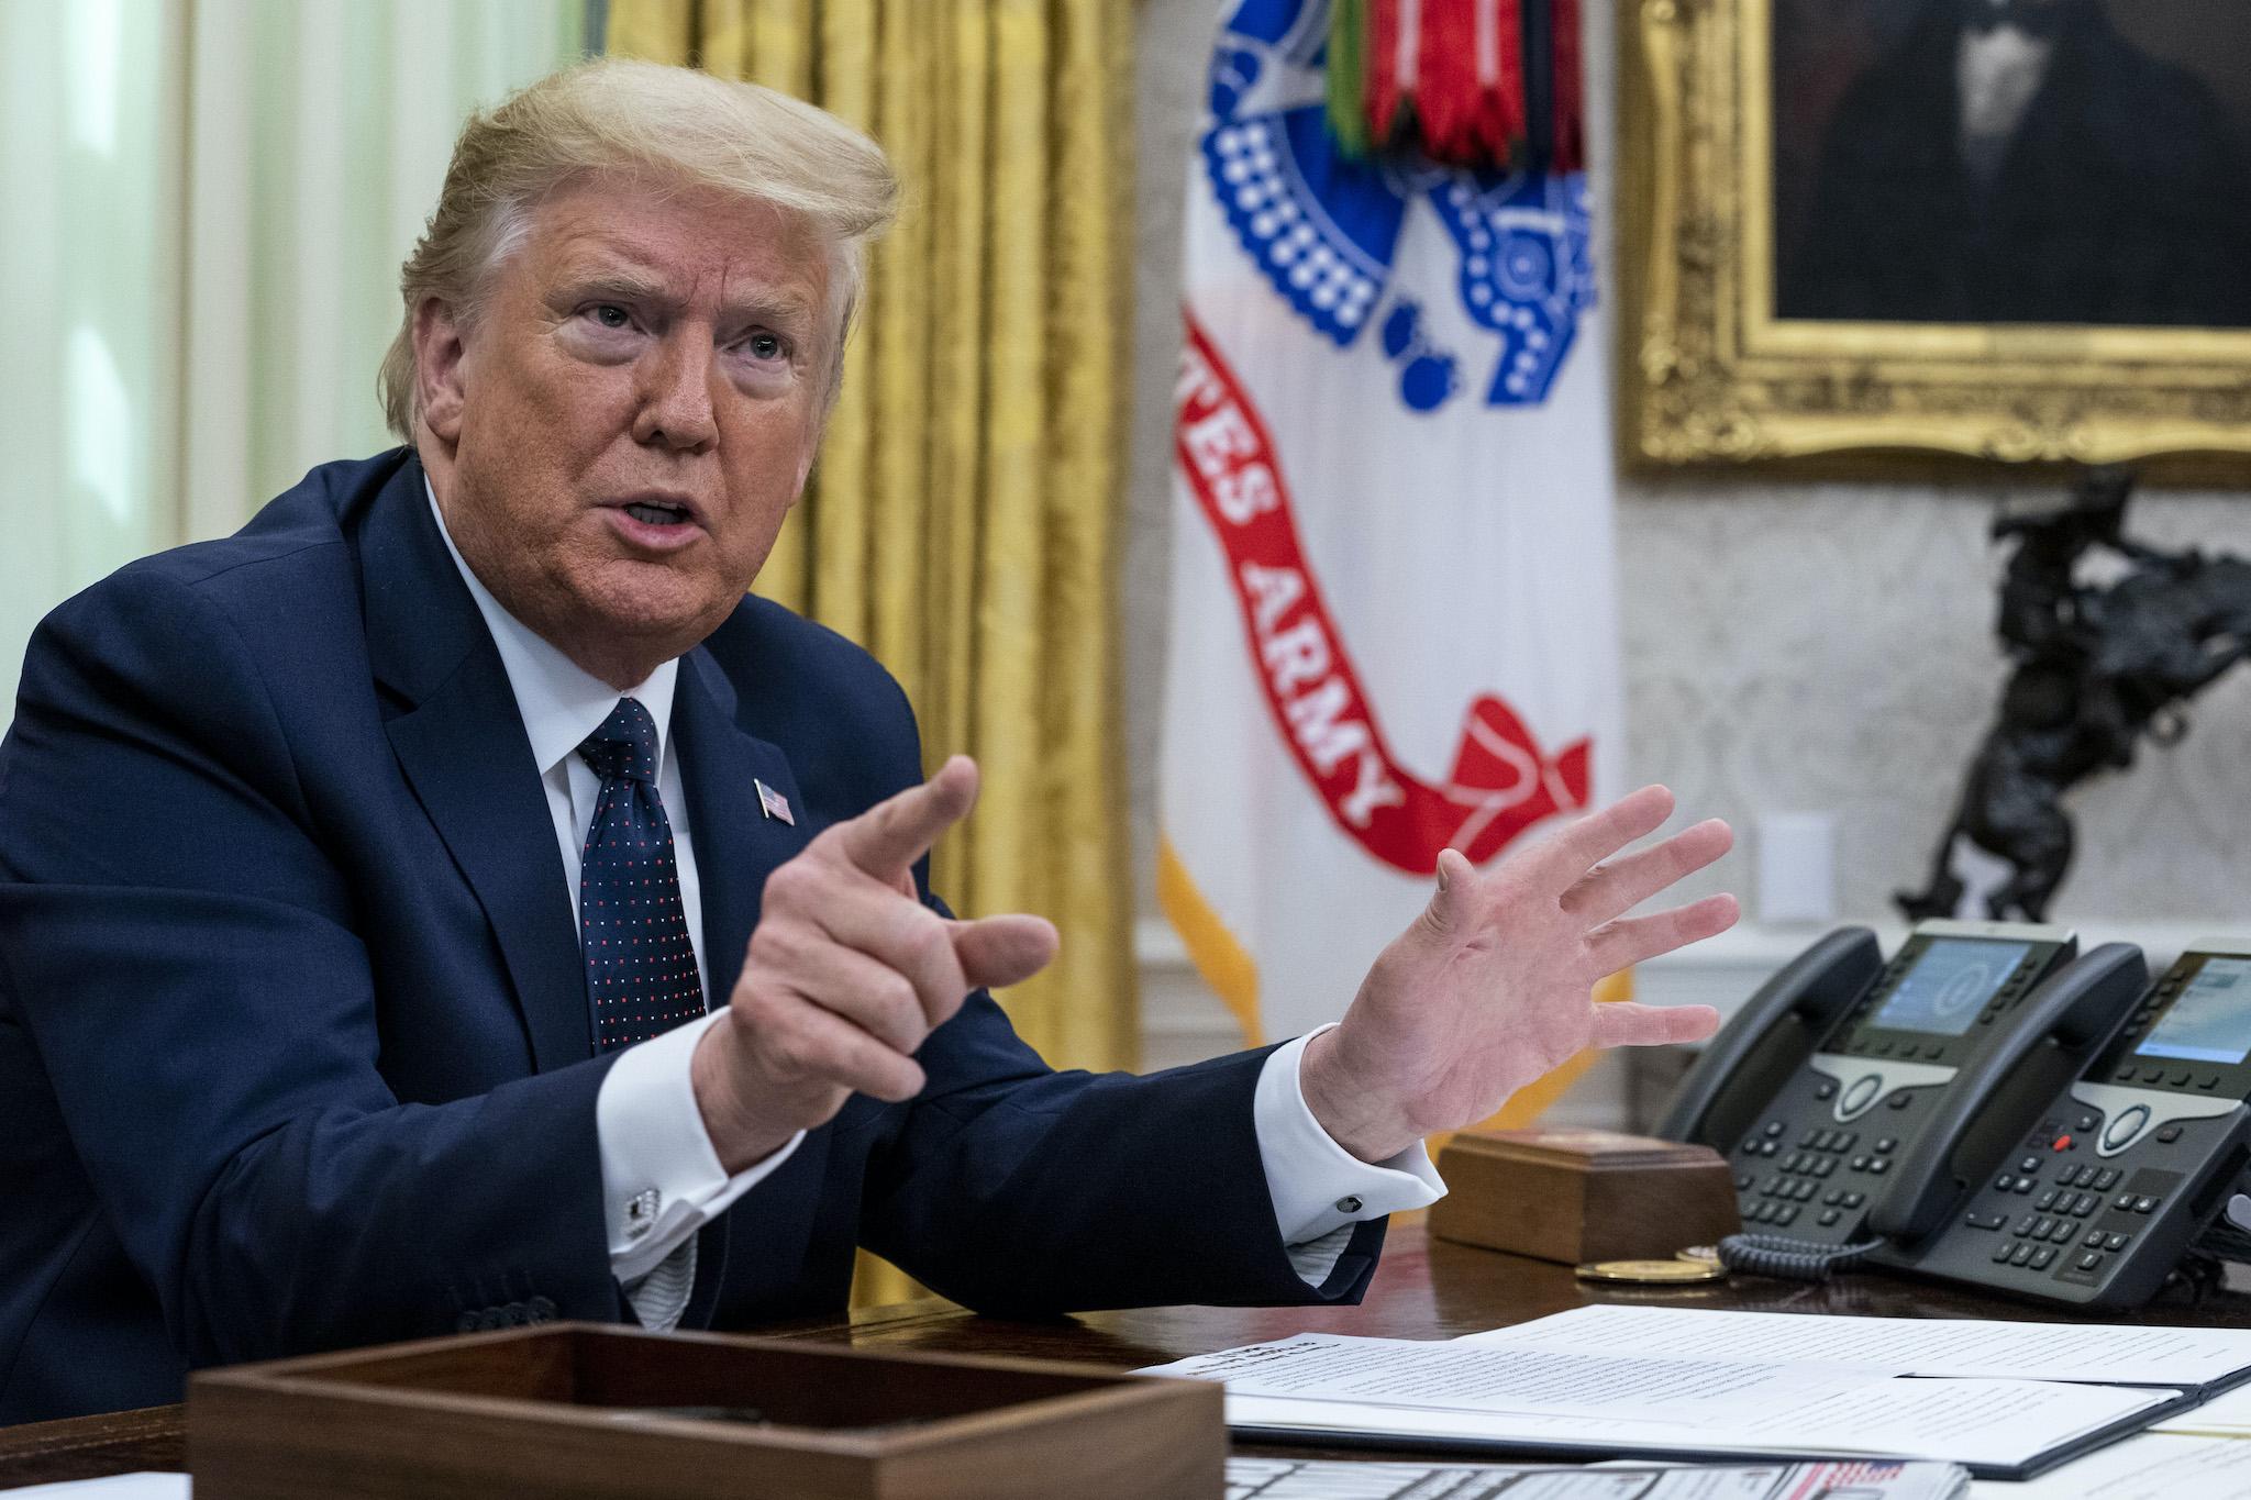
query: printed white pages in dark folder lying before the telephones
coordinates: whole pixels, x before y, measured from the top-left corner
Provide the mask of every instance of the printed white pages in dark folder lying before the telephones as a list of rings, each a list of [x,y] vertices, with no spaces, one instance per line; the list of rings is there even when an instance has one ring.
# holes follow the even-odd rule
[[[1582,1307],[1452,1343],[1306,1334],[1159,1365],[1274,1442],[1841,1457],[2026,1478],[2251,1379],[2251,1331]]]

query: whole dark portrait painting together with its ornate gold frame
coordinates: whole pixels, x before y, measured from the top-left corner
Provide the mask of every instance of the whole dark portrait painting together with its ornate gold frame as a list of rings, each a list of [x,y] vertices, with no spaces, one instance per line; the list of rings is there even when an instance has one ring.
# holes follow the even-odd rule
[[[1618,2],[1630,468],[2251,479],[2251,7]]]

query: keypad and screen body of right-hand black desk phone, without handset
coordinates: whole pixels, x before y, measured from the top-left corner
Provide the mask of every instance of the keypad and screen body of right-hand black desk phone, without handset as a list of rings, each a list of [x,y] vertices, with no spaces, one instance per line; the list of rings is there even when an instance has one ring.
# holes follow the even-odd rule
[[[2251,1163],[2251,942],[2206,938],[2071,1077],[1967,1149],[1943,1232],[1873,1259],[2048,1302],[2132,1307],[2204,1237]]]

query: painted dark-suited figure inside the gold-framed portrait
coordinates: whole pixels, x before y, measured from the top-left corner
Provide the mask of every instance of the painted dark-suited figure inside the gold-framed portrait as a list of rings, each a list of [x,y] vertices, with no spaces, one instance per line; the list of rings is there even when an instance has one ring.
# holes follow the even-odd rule
[[[2251,326],[2251,169],[2098,0],[1929,0],[1823,137],[1783,317]]]

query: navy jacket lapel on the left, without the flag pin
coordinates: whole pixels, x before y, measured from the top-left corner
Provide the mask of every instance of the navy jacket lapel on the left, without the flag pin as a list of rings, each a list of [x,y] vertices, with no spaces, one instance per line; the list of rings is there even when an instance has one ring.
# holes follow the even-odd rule
[[[430,517],[419,463],[360,542],[367,645],[407,711],[385,726],[423,812],[493,924],[540,1073],[594,1055],[585,963],[531,742],[477,603]]]

